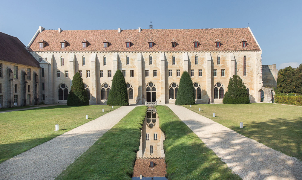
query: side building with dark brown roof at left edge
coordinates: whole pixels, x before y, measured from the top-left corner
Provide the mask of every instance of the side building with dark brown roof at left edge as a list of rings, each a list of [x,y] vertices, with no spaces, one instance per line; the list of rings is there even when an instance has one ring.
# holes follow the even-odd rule
[[[18,38],[0,32],[0,108],[39,104],[40,70]]]

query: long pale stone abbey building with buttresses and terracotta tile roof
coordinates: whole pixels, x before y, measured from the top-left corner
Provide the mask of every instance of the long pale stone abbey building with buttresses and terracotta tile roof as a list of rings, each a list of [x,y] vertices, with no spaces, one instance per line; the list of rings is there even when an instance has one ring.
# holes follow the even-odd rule
[[[251,102],[263,100],[262,50],[249,27],[135,30],[39,27],[26,50],[41,67],[35,70],[37,96],[45,104],[66,103],[76,72],[82,75],[90,104],[105,104],[116,70],[124,74],[130,104],[174,103],[183,71],[191,74],[196,103],[207,103],[209,98],[214,103],[222,102],[234,74],[243,79]],[[2,64],[1,68],[7,71],[8,67]]]

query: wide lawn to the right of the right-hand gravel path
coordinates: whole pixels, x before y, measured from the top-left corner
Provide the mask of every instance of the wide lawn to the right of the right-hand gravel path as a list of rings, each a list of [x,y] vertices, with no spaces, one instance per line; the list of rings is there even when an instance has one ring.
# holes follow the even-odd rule
[[[302,107],[269,103],[197,104],[191,108],[190,105],[185,107],[272,149],[302,160]],[[218,117],[213,117],[213,113]],[[239,128],[240,122],[243,122],[243,129]]]

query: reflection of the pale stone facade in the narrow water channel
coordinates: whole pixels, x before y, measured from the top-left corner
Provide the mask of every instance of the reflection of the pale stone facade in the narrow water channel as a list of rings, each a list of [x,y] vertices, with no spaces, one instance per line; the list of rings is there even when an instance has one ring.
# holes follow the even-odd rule
[[[149,108],[148,111],[143,124],[137,158],[164,158],[163,141],[165,135],[159,129],[159,120],[155,109]]]

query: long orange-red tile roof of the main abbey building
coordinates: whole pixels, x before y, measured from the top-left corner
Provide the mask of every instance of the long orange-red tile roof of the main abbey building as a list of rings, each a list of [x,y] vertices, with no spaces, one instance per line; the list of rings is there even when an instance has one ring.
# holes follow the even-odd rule
[[[176,38],[175,38],[176,37]],[[240,45],[241,39],[246,39],[246,47]],[[43,39],[49,45],[39,49],[35,43]],[[58,44],[65,39],[70,44],[61,49]],[[135,30],[44,30],[37,35],[29,51],[83,51],[81,41],[86,39],[90,46],[85,51],[260,51],[248,28],[218,28],[218,29],[142,29]],[[103,48],[105,40],[110,46]],[[126,48],[125,39],[131,39],[131,47]],[[172,49],[171,39],[177,41],[177,46]],[[192,44],[199,39],[199,46]],[[215,41],[219,39],[223,44],[217,48]],[[149,48],[148,42],[154,42]]]

